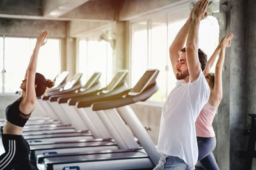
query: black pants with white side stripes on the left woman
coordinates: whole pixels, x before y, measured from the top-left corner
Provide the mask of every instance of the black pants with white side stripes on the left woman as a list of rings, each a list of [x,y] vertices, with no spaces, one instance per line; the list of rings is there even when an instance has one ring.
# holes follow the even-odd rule
[[[22,135],[2,134],[5,153],[0,156],[0,169],[32,170],[29,145]]]

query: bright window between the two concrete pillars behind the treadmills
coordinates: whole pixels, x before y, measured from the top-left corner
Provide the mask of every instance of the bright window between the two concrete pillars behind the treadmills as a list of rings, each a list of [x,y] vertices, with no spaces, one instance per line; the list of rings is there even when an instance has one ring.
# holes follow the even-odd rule
[[[94,72],[101,72],[102,87],[113,78],[113,50],[107,41],[79,41],[79,72],[86,75],[88,80]]]

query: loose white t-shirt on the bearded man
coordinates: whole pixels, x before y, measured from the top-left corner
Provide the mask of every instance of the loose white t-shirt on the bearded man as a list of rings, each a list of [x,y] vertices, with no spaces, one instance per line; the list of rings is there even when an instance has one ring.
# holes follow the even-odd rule
[[[210,96],[210,88],[200,71],[191,83],[178,80],[164,103],[157,151],[179,157],[195,169],[198,159],[195,121]]]

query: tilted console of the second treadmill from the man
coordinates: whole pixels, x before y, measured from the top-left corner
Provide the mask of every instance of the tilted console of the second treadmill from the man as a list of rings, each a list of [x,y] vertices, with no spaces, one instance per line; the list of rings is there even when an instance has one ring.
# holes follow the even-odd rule
[[[106,89],[102,90],[102,93],[108,93],[116,88],[116,86],[124,81],[125,76],[127,75],[127,70],[118,71]]]

